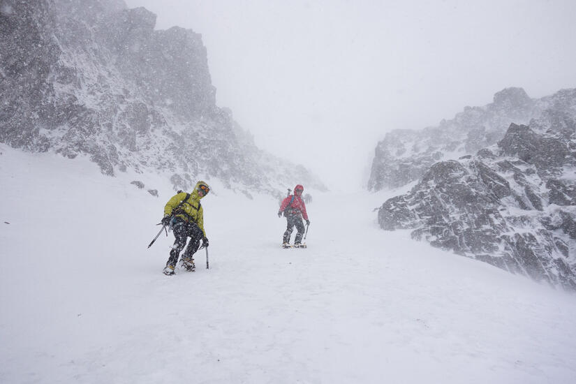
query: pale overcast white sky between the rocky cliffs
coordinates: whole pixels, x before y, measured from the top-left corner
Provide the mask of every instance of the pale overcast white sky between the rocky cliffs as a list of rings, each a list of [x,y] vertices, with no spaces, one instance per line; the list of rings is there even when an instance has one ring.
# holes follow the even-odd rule
[[[218,105],[332,189],[364,184],[393,128],[576,87],[574,0],[125,1],[202,34]]]

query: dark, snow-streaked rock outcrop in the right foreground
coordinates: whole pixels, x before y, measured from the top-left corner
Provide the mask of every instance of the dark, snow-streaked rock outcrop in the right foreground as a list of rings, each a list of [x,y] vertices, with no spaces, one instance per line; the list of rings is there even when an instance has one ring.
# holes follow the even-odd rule
[[[431,165],[381,228],[576,289],[576,92],[475,156]]]

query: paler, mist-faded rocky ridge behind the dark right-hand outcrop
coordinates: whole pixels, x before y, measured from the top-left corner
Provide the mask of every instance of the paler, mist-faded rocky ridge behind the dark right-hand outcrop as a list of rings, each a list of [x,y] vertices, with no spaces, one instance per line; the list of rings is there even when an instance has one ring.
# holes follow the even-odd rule
[[[528,124],[547,108],[561,110],[570,97],[570,91],[559,91],[533,100],[522,88],[507,88],[494,95],[494,103],[466,107],[438,126],[391,131],[376,146],[368,189],[394,189],[414,182],[437,161],[457,159],[494,145],[511,123]]]

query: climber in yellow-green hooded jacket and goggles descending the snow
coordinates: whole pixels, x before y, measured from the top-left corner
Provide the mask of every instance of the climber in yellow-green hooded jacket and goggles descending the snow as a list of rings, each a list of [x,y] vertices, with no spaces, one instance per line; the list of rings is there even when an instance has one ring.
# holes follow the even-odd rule
[[[209,191],[210,187],[208,184],[200,181],[196,183],[191,193],[177,193],[166,203],[162,223],[165,226],[170,226],[176,240],[170,251],[170,258],[168,258],[166,267],[163,270],[164,274],[174,274],[180,252],[186,246],[188,237],[190,237],[190,242],[181,260],[182,267],[187,271],[195,269],[192,256],[198,251],[200,240],[202,240],[202,248],[208,246],[208,239],[204,230],[204,209],[200,205],[200,199],[207,195]]]

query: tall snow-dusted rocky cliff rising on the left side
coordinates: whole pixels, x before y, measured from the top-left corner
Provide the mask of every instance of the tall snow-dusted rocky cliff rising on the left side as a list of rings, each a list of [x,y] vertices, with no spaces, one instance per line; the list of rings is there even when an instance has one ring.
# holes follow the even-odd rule
[[[156,15],[122,1],[4,3],[0,142],[89,154],[107,175],[161,170],[175,189],[200,175],[269,193],[294,179],[323,188],[307,170],[263,154],[216,106],[200,34],[154,31]]]

